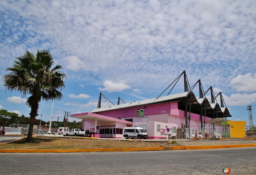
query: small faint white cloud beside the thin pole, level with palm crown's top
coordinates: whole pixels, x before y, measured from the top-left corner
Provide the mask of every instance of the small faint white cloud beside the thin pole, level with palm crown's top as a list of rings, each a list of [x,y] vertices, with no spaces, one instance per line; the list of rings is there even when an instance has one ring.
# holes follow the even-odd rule
[[[78,71],[85,68],[84,62],[76,56],[64,57],[61,61],[66,69]]]

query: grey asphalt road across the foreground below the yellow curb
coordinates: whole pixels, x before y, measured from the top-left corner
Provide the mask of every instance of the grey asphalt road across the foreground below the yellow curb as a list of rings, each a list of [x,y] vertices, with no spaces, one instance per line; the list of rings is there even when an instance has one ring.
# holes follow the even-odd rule
[[[256,147],[105,153],[0,153],[0,174],[203,174],[203,169],[215,174],[214,169],[222,171],[223,167],[231,171],[240,168],[256,172],[255,153]]]

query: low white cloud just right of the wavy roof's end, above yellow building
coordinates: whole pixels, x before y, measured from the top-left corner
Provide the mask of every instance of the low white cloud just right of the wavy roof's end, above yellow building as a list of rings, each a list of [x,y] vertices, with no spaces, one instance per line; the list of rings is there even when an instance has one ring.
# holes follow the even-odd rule
[[[222,94],[222,96],[227,106],[247,106],[256,101],[256,93],[232,94],[230,96]]]

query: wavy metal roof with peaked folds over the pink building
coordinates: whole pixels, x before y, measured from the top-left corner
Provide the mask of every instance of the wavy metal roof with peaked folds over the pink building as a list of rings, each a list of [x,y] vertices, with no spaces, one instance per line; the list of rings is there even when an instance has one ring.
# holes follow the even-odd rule
[[[104,108],[98,108],[94,109],[91,112],[101,112],[101,111],[108,111],[108,110],[117,110],[117,109],[124,109],[124,108],[131,108],[131,107],[136,107],[136,106],[143,106],[143,105],[150,105],[150,104],[157,104],[157,103],[166,103],[166,102],[174,102],[174,101],[179,101],[178,103],[178,108],[183,110],[183,107],[185,105],[185,98],[190,97],[191,95],[191,112],[193,113],[198,113],[196,109],[201,108],[200,105],[202,105],[204,102],[206,102],[206,110],[207,110],[207,117],[214,118],[210,116],[210,114],[216,110],[217,115],[221,114],[225,115],[224,117],[232,117],[228,111],[227,107],[221,108],[218,103],[209,103],[209,100],[207,98],[196,98],[195,94],[192,91],[188,92],[182,92],[178,94],[172,94],[172,95],[167,95],[159,98],[152,98],[152,99],[147,99],[147,100],[142,100],[142,101],[137,101],[137,102],[132,102],[132,103],[125,103],[125,104],[120,104],[120,105],[114,105],[110,107],[104,107]],[[189,105],[189,100],[188,100],[188,105]],[[205,103],[204,103],[205,105]],[[196,108],[196,109],[195,109]],[[212,110],[212,111],[211,111]],[[204,111],[203,111],[204,115]],[[223,116],[217,116],[217,117],[223,117]]]

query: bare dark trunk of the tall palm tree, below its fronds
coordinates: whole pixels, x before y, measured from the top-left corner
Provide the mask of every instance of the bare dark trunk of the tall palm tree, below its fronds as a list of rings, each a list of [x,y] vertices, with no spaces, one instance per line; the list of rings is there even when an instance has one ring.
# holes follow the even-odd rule
[[[31,112],[30,114],[30,119],[29,119],[29,129],[28,129],[28,137],[27,137],[27,141],[32,141],[32,133],[33,133],[33,128],[34,128],[34,123],[36,120],[36,116],[38,116],[37,114],[37,110],[38,110],[38,100],[37,98],[35,98],[33,104],[31,105]]]

